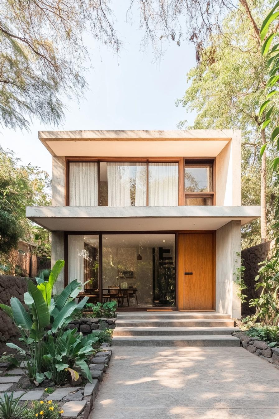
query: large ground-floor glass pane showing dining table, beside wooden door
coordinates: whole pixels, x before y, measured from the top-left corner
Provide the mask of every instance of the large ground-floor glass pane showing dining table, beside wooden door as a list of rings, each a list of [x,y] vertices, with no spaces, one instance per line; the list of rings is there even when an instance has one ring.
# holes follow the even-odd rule
[[[123,307],[175,305],[175,235],[102,237],[103,295]]]

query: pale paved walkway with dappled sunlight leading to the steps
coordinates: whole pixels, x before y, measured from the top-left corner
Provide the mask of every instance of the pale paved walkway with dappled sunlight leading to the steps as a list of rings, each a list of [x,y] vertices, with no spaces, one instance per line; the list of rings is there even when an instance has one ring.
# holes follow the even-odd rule
[[[234,347],[113,347],[91,419],[279,419],[279,370]]]

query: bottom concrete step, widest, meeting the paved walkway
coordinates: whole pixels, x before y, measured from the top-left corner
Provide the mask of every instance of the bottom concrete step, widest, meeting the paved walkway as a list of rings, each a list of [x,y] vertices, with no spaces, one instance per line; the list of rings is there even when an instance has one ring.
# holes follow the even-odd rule
[[[240,340],[234,336],[113,336],[113,346],[196,346],[239,347]]]

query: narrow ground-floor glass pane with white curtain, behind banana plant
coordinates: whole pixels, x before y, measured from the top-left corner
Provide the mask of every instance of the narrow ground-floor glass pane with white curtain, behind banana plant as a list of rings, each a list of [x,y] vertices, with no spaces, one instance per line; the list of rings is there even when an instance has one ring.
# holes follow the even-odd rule
[[[99,236],[68,235],[68,282],[77,279],[89,281],[84,292],[90,294],[90,302],[99,300]]]

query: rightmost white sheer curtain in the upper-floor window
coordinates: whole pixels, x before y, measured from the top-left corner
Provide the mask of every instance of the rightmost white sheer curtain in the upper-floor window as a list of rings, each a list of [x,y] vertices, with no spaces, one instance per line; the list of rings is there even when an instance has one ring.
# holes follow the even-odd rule
[[[178,205],[178,163],[149,163],[148,204],[151,207]]]

